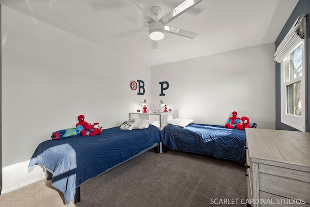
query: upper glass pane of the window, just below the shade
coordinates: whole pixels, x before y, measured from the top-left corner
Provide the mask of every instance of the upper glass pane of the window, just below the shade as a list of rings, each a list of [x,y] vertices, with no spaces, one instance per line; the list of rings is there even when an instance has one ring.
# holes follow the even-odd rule
[[[290,54],[290,66],[288,80],[294,80],[302,76],[302,45]]]

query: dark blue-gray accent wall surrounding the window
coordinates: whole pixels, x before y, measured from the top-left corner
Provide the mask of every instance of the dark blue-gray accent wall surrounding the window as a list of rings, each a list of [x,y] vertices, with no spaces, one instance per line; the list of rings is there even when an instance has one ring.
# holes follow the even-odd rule
[[[308,119],[310,114],[310,0],[299,0],[290,18],[287,20],[282,31],[276,40],[276,49],[284,39],[287,32],[291,29],[292,25],[300,15],[307,17],[307,131],[310,131],[310,121]],[[297,129],[281,123],[281,88],[280,88],[280,64],[276,63],[276,129],[279,130],[293,130]]]

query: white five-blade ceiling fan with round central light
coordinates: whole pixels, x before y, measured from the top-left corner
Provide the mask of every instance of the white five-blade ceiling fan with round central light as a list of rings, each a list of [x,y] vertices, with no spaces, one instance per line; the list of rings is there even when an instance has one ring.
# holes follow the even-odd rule
[[[158,41],[163,39],[165,36],[164,32],[176,34],[176,35],[183,36],[183,37],[188,37],[191,39],[193,39],[197,35],[197,33],[188,32],[186,30],[171,27],[171,26],[168,26],[167,24],[171,22],[173,19],[175,19],[176,17],[182,15],[184,12],[186,12],[191,7],[200,3],[202,0],[185,0],[160,19],[158,19],[158,14],[161,12],[160,6],[152,7],[151,13],[155,16],[155,18],[153,18],[148,13],[146,13],[134,0],[121,0],[121,1],[125,5],[130,7],[139,16],[143,17],[143,19],[149,24],[149,26],[140,28],[140,29],[130,30],[127,32],[113,34],[114,37],[123,37],[127,34],[139,32],[141,30],[145,30],[148,28],[149,37],[151,39],[151,49],[157,49]]]

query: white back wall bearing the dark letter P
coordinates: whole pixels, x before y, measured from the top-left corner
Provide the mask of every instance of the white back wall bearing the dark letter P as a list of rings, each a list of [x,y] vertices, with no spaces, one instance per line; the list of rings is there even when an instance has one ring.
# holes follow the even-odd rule
[[[274,52],[271,43],[154,66],[151,99],[195,123],[225,125],[237,111],[259,128],[274,129]],[[161,81],[169,82],[165,96],[159,96]]]

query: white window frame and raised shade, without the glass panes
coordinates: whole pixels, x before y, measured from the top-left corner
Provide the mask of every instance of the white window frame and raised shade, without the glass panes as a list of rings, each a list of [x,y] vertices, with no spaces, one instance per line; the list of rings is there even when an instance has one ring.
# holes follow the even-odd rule
[[[307,75],[306,75],[306,17],[302,17],[304,19],[301,20],[300,16],[294,23],[291,30],[288,32],[288,34],[283,39],[282,43],[277,48],[276,54],[275,54],[275,60],[280,63],[281,65],[281,75],[280,75],[280,81],[281,81],[281,123],[286,124],[290,127],[294,127],[300,131],[307,131],[307,96],[306,96],[306,86],[307,86]],[[298,23],[301,23],[301,25],[304,27],[304,35],[305,38],[301,39],[296,35],[296,27],[298,27]],[[304,24],[304,25],[303,25]],[[300,26],[300,24],[299,24]],[[301,80],[301,116],[287,114],[287,101],[286,101],[286,86],[288,85],[288,82],[286,82],[285,79],[285,69],[288,67],[287,57],[294,52],[296,48],[298,48],[302,44],[302,76],[295,79],[294,81]],[[280,51],[281,50],[281,51]]]

